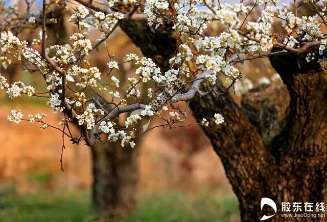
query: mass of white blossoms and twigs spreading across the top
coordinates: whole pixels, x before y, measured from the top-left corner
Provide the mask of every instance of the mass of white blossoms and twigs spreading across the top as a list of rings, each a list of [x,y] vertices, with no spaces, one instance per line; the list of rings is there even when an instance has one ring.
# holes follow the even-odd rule
[[[321,11],[316,15],[302,17],[290,11],[287,4],[278,5],[277,0],[259,0],[253,6],[204,0],[180,3],[167,0],[108,0],[101,3],[107,6],[105,8],[97,8],[98,3],[92,5],[95,4],[92,1],[89,4],[77,4],[68,19],[76,32],[62,44],[47,45],[44,26],[39,39],[33,40],[32,46],[9,31],[14,30],[12,27],[4,28],[0,40],[0,65],[6,69],[15,61],[22,67],[32,66],[33,72],[40,72],[45,80],[44,88],[47,91],[36,93],[34,87],[21,81],[9,84],[2,75],[0,89],[5,90],[11,99],[21,94],[35,97],[42,94],[42,97],[48,98],[46,104],[54,113],[64,112],[64,115],[68,115],[59,122],[63,133],[68,123],[78,124],[85,141],[89,134],[91,138],[106,135],[110,142],[120,141],[122,146],[134,147],[133,138],[143,133],[139,129],[141,127],[137,126],[146,116],[159,117],[166,121],[165,126],[168,127],[186,119],[185,111],[174,105],[176,101],[189,101],[189,92],[201,96],[210,93],[202,92],[198,82],[216,87],[217,81],[224,78],[228,89],[234,86],[237,93],[251,89],[252,82],[247,78],[242,79],[242,70],[236,64],[260,57],[262,52],[269,54],[269,50],[277,43],[278,47],[295,52],[302,45],[315,45],[317,52],[305,54],[307,62],[318,61],[322,67],[327,67],[324,57],[327,39],[321,28],[321,24],[325,23],[326,3],[327,0],[322,1]],[[307,4],[312,5],[313,2],[308,1]],[[56,6],[56,2],[53,5]],[[110,7],[114,10],[109,10]],[[6,18],[9,18],[8,13],[15,15],[16,8],[14,5],[8,6]],[[133,11],[129,11],[131,8]],[[259,18],[250,19],[248,16],[251,12],[258,9],[261,10]],[[160,55],[157,58],[138,58],[136,54],[129,53],[126,54],[125,62],[115,61],[107,47],[110,40],[108,36],[120,20],[126,17],[132,19],[133,13],[146,15],[144,22],[151,26],[151,32],[160,29],[160,32],[166,33],[171,27],[174,37],[179,38],[175,53],[169,58]],[[21,17],[25,19],[21,24],[36,29],[38,19],[34,14]],[[52,20],[57,22],[55,18]],[[276,21],[280,21],[288,33],[282,42],[277,42],[272,35]],[[223,26],[223,30],[219,34],[208,35],[205,32],[207,27],[214,27],[217,23]],[[100,32],[101,38],[95,41],[89,38],[91,31]],[[36,47],[41,43],[42,53]],[[100,69],[100,66],[92,64],[90,57],[94,49],[101,47],[101,43],[106,47],[108,58],[104,63],[107,64],[105,68]],[[165,68],[162,64],[156,64],[163,58]],[[135,73],[127,81],[118,72],[124,71],[125,64],[136,67]],[[32,72],[30,68],[26,70]],[[270,81],[277,81],[278,77],[261,78],[260,83],[269,84]],[[146,89],[141,88],[141,84]],[[144,102],[149,99],[152,102]],[[133,111],[131,107],[140,109],[140,112],[127,116],[121,122],[123,126],[116,127],[115,118],[122,118],[122,112]],[[168,116],[166,119],[165,114]],[[41,128],[45,129],[49,125],[42,121],[44,116],[29,115],[29,121],[40,122]],[[13,109],[8,121],[22,121],[20,110]],[[223,124],[224,121],[221,114],[215,114],[208,120],[203,118],[199,124],[207,127],[214,122]]]

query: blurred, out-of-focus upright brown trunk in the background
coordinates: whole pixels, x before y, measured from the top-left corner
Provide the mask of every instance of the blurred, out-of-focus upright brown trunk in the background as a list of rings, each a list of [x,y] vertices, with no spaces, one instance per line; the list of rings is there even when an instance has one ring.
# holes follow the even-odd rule
[[[102,218],[121,217],[136,207],[138,149],[98,142],[92,151],[92,201]]]

